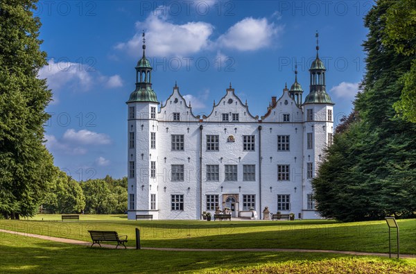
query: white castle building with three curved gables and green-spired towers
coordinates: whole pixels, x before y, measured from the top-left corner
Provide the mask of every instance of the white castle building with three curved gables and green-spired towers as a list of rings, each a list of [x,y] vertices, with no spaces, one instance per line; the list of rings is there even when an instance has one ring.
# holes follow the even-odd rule
[[[291,89],[272,96],[260,119],[231,84],[208,116],[194,116],[176,84],[158,108],[145,49],[127,101],[128,219],[201,219],[216,207],[229,207],[233,217],[251,216],[254,209],[263,219],[268,207],[320,218],[311,178],[332,142],[334,104],[318,45],[305,100],[295,71]]]

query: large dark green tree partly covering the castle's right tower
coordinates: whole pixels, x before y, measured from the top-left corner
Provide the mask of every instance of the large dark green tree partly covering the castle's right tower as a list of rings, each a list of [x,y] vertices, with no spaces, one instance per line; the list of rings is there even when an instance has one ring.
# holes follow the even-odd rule
[[[382,42],[387,37],[385,15],[393,3],[378,1],[365,17],[370,32],[363,44],[363,91],[356,96],[353,113],[336,129],[313,180],[324,217],[359,221],[416,214],[416,125],[396,117],[392,107],[413,58]]]

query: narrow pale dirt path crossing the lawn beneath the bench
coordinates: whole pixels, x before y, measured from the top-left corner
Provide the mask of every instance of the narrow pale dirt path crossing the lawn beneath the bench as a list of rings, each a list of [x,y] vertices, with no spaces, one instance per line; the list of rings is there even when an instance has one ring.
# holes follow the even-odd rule
[[[16,232],[11,230],[1,230],[0,232],[15,234],[19,236],[33,237],[37,239],[43,239],[47,241],[56,241],[59,243],[70,243],[76,244],[79,246],[91,246],[92,242],[90,241],[79,241],[73,239],[65,239],[58,237],[49,237],[44,235],[31,234],[26,232]],[[97,246],[97,245],[95,245]],[[110,244],[101,244],[103,248],[116,248],[116,246]],[[123,248],[123,247],[121,247]],[[132,246],[128,246],[128,249],[135,249]],[[291,249],[291,248],[223,248],[223,249],[213,249],[213,248],[144,248],[143,250],[164,250],[164,251],[188,251],[188,252],[218,252],[218,251],[229,251],[229,252],[320,252],[320,253],[335,253],[335,254],[346,254],[346,255],[366,255],[366,256],[379,256],[379,257],[388,257],[386,253],[375,253],[375,252],[356,252],[356,251],[339,251],[339,250],[315,250],[315,249]],[[396,254],[392,254],[392,257],[396,257]],[[403,259],[416,259],[416,255],[400,255]]]

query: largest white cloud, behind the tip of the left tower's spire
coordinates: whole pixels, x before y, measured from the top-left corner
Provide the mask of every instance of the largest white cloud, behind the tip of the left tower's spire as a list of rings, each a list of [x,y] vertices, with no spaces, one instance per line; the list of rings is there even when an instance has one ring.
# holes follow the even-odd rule
[[[130,55],[141,55],[141,31],[146,30],[146,53],[148,56],[184,56],[196,53],[209,44],[214,26],[205,22],[173,24],[161,15],[150,15],[144,22],[136,23],[137,33],[128,42],[122,42],[115,49],[127,50]]]

